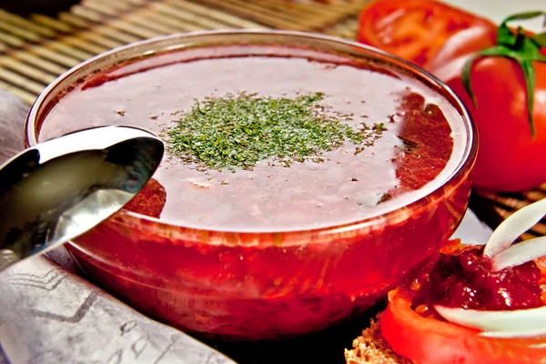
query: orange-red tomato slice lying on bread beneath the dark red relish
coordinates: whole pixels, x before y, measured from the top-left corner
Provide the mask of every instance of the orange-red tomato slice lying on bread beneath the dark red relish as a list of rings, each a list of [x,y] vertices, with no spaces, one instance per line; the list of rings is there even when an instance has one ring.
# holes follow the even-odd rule
[[[546,358],[546,338],[484,338],[475,329],[423,318],[411,309],[403,288],[389,293],[380,328],[394,351],[420,364],[521,364]]]

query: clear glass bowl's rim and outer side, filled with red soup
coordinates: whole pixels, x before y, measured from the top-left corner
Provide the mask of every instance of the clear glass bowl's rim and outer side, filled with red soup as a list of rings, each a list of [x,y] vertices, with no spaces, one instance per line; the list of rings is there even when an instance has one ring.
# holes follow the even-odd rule
[[[457,96],[420,68],[369,46],[323,35],[255,30],[169,35],[117,48],[60,76],[32,107],[26,144],[42,140],[47,115],[60,98],[101,70],[143,56],[176,56],[217,45],[319,50],[410,75],[456,110],[450,123],[462,140],[460,154],[451,160],[450,173],[423,196],[347,224],[225,231],[122,210],[66,248],[100,287],[179,329],[225,339],[281,339],[350,319],[450,238],[470,197],[475,128]],[[71,127],[70,120],[66,125]]]

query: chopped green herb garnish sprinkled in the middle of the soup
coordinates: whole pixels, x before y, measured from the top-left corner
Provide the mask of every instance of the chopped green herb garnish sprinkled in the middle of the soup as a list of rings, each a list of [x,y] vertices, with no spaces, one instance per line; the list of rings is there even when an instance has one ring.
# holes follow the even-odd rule
[[[341,123],[336,116],[344,116],[319,104],[323,98],[319,92],[293,98],[239,93],[196,100],[187,112],[171,114],[180,118],[166,132],[168,150],[200,170],[252,169],[267,158],[290,167],[323,162],[323,152],[346,141],[360,152],[385,130],[383,124],[370,130],[364,123],[360,129]]]

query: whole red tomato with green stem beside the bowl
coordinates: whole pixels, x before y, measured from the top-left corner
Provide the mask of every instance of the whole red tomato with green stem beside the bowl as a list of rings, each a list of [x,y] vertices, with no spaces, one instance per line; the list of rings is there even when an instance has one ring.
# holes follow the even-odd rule
[[[499,27],[495,45],[430,69],[460,96],[478,127],[476,188],[515,192],[546,182],[544,39],[507,25],[543,15],[509,16]]]

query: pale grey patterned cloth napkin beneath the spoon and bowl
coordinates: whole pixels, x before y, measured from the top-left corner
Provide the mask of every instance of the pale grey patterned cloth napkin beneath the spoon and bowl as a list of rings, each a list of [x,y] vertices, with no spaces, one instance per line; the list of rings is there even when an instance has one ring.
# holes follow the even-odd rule
[[[27,111],[0,90],[0,164],[23,149]],[[235,363],[84,277],[63,247],[0,272],[0,364]]]

